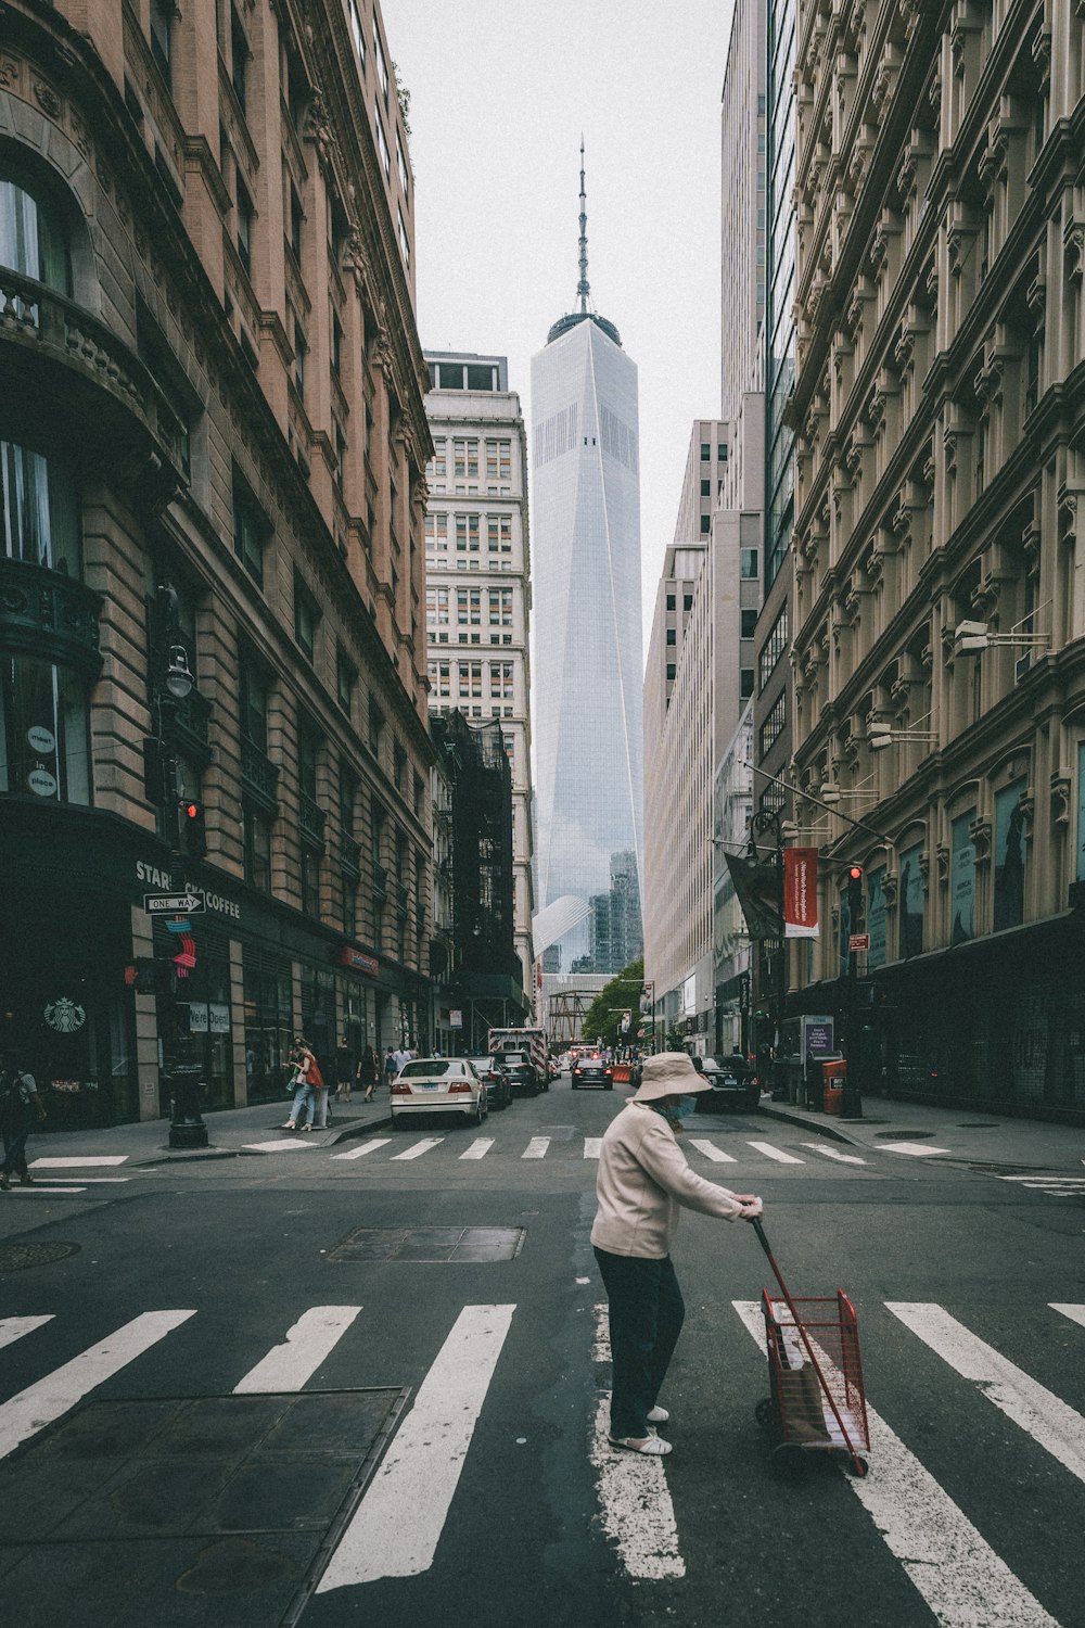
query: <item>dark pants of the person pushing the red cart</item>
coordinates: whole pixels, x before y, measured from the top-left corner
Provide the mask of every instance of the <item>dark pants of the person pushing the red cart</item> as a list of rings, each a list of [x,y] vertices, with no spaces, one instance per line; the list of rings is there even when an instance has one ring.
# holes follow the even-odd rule
[[[610,1301],[610,1434],[639,1441],[682,1333],[685,1302],[670,1255],[647,1260],[597,1249],[595,1260]]]

